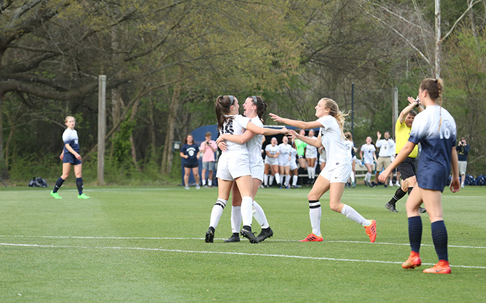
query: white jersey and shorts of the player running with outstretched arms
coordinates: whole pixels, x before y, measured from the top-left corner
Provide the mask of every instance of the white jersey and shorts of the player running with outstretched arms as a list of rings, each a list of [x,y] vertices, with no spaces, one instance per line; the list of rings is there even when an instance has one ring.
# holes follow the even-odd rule
[[[331,115],[317,119],[322,125],[320,136],[326,149],[327,162],[320,175],[331,183],[346,183],[351,174],[351,158],[336,118]]]

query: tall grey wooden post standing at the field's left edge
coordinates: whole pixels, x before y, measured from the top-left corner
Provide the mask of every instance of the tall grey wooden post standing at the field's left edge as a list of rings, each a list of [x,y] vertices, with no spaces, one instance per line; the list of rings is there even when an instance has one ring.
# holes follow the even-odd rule
[[[98,88],[98,185],[105,184],[106,75],[99,76]]]

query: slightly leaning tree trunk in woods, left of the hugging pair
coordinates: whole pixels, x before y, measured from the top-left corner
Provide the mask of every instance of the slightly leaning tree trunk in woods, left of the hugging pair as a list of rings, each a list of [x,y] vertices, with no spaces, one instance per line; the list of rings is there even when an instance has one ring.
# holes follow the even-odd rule
[[[178,79],[183,78],[183,69],[178,66]],[[180,81],[174,85],[171,106],[169,107],[169,120],[167,123],[167,134],[164,141],[164,153],[162,153],[162,174],[171,174],[172,170],[172,144],[174,139],[174,126],[176,124],[177,110],[180,103]]]

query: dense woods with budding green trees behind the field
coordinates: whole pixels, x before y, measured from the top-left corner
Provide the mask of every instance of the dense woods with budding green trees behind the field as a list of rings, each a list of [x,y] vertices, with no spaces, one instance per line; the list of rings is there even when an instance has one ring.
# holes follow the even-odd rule
[[[101,74],[106,181],[143,183],[175,174],[172,142],[215,124],[219,94],[259,94],[269,112],[302,120],[320,97],[345,110],[353,98],[359,146],[392,129],[394,87],[401,109],[436,59],[469,174],[486,174],[486,0],[441,1],[438,58],[434,17],[432,0],[1,0],[2,177],[59,175],[74,115],[94,181]]]

